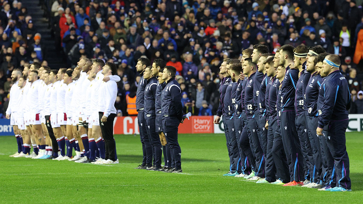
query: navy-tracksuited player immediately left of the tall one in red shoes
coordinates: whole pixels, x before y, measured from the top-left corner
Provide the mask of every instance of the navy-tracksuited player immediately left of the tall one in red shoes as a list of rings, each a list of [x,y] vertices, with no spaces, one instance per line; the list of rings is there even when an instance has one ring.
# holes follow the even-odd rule
[[[276,53],[277,54],[277,53]],[[276,56],[280,56],[280,53],[278,53]],[[280,60],[276,60],[276,58],[274,58],[274,65],[275,62],[278,61],[280,62]],[[277,116],[277,126],[274,132],[274,138],[273,138],[273,146],[272,146],[272,156],[273,156],[273,160],[276,166],[276,174],[278,176],[278,180],[276,180],[275,182],[272,182],[272,184],[276,184],[276,185],[283,185],[285,183],[289,183],[290,182],[290,173],[289,173],[289,165],[287,164],[287,159],[286,159],[286,150],[284,147],[284,143],[282,142],[282,135],[281,135],[281,88],[280,85],[282,83],[282,81],[284,80],[285,77],[285,72],[286,72],[286,68],[283,66],[278,66],[276,69],[276,80],[272,83],[272,86],[270,87],[269,90],[269,94],[270,97],[269,98],[269,102],[271,103],[270,106],[270,110],[271,110],[271,115],[276,115]],[[276,92],[274,92],[276,91]],[[275,101],[274,98],[276,98],[276,104],[273,104],[273,102]],[[273,106],[276,106],[276,111],[273,110]],[[273,120],[273,118],[272,118]],[[271,124],[273,126],[273,122]],[[270,128],[270,124],[269,124],[269,128]]]

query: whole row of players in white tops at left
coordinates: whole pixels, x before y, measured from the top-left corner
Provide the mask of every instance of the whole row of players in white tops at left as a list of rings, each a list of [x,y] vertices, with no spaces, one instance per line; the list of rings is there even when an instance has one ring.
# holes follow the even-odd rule
[[[74,70],[50,70],[37,62],[23,72],[13,70],[6,117],[11,119],[18,151],[11,156],[118,163],[113,119],[116,82],[121,78],[116,73],[113,63],[87,58]]]

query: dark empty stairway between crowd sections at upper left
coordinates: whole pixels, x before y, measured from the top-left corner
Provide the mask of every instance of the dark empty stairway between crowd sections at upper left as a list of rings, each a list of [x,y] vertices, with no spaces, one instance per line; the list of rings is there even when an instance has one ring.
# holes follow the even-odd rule
[[[33,24],[37,29],[37,32],[41,34],[41,42],[47,48],[46,61],[51,69],[66,68],[67,65],[63,60],[62,55],[55,48],[54,39],[51,36],[49,25],[49,19],[43,17],[44,11],[41,6],[38,6],[39,0],[26,0],[22,1],[23,6],[28,9],[28,13],[32,16]]]

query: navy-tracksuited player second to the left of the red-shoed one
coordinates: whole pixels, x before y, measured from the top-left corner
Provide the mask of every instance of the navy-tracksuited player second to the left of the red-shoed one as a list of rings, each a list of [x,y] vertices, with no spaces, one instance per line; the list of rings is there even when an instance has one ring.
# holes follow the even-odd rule
[[[262,58],[262,57],[261,57]],[[260,60],[261,60],[260,58]],[[273,67],[273,57],[268,57],[262,65],[265,68],[266,78],[262,81],[260,87],[260,94],[264,90],[264,101],[262,106],[262,100],[259,99],[259,105],[261,103],[261,107],[259,107],[260,118],[263,117],[265,120],[265,126],[262,127],[266,129],[266,162],[265,162],[265,179],[260,179],[257,183],[272,183],[276,181],[276,167],[273,161],[272,156],[272,147],[273,147],[273,139],[274,139],[274,131],[277,126],[277,114],[276,114],[276,89],[271,89],[272,84],[277,80],[276,79],[276,71]],[[266,83],[266,85],[265,85]],[[265,88],[264,88],[265,87]],[[270,94],[270,90],[272,93]],[[258,95],[260,98],[260,95]],[[271,100],[271,101],[270,101]],[[264,107],[264,110],[262,110]],[[273,113],[272,113],[273,112]],[[262,113],[262,115],[261,115]],[[268,122],[266,122],[266,119]],[[261,120],[262,122],[264,120]],[[262,126],[262,124],[261,124]]]

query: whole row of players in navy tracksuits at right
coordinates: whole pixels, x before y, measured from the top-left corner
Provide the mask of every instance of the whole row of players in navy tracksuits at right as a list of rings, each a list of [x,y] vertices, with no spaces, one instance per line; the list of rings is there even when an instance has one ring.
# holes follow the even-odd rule
[[[265,45],[224,59],[220,74],[230,171],[257,183],[351,191],[345,145],[350,93],[340,59],[321,46]]]

